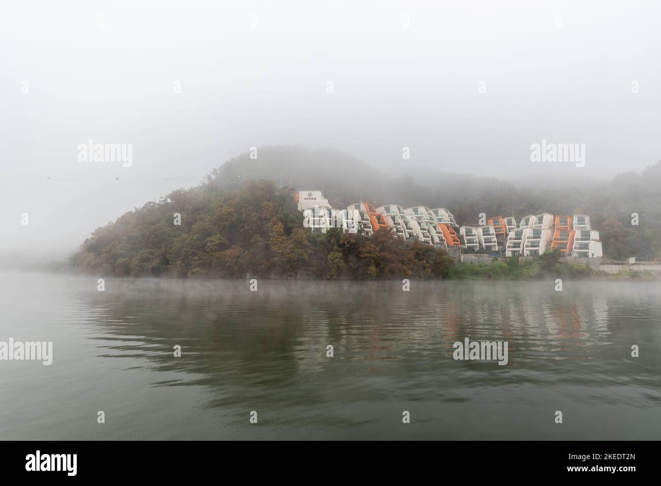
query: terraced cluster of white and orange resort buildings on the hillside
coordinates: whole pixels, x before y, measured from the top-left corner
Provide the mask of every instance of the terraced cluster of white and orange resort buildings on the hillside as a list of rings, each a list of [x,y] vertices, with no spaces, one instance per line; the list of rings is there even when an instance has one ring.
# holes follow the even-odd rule
[[[371,236],[380,228],[393,228],[399,238],[420,241],[461,252],[488,252],[494,256],[539,256],[558,248],[563,256],[601,258],[599,232],[590,226],[586,215],[554,216],[549,213],[528,215],[518,223],[514,217],[492,217],[484,226],[458,226],[444,207],[404,208],[399,204],[375,207],[360,202],[344,207],[331,205],[322,191],[297,191],[304,226],[313,233],[329,228]],[[334,207],[335,206],[335,207]]]

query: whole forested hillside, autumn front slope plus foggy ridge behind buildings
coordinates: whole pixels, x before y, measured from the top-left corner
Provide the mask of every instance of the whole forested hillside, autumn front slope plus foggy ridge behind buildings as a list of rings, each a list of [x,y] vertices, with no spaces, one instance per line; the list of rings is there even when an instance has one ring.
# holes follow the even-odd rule
[[[434,175],[435,174],[435,175]],[[423,178],[424,179],[424,178]],[[290,180],[292,187],[290,187]],[[479,213],[520,218],[543,211],[592,216],[605,256],[661,256],[661,166],[621,174],[592,188],[525,188],[471,175],[432,173],[422,182],[388,174],[333,151],[261,149],[229,160],[196,188],[173,191],[97,228],[71,263],[103,275],[173,277],[445,277],[441,250],[372,238],[313,235],[302,227],[295,188],[322,189],[342,204],[364,201],[447,207],[457,223]],[[180,225],[175,224],[180,214]],[[631,225],[631,213],[639,225]]]

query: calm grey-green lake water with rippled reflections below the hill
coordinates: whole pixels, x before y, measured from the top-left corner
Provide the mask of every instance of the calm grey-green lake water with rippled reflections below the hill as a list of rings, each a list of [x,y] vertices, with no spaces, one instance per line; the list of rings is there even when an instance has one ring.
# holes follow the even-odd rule
[[[54,361],[0,361],[0,438],[661,438],[661,283],[553,286],[2,273],[0,341]]]

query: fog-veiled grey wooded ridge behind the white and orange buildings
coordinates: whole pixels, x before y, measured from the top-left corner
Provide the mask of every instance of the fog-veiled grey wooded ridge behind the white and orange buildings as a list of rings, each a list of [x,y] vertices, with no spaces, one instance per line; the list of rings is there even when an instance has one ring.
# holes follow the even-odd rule
[[[624,165],[624,164],[623,164]],[[245,178],[272,179],[283,186],[322,189],[344,204],[363,201],[399,203],[404,207],[447,207],[459,225],[477,225],[479,213],[520,219],[543,212],[587,214],[600,230],[605,256],[661,256],[661,162],[642,174],[625,172],[606,183],[585,186],[571,180],[559,184],[514,184],[508,180],[471,174],[380,170],[344,153],[299,147],[260,149],[258,160],[248,154],[225,162],[214,171],[218,184],[237,184]],[[413,175],[411,175],[413,174]],[[638,213],[639,225],[631,224]]]

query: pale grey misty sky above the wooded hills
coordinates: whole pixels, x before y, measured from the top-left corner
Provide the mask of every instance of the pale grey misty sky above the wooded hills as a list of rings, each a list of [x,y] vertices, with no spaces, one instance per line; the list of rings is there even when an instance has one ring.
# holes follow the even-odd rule
[[[63,258],[252,146],[532,186],[642,170],[661,158],[660,18],[658,1],[3,2],[0,264]],[[89,139],[131,143],[132,166],[80,162]],[[531,162],[542,139],[585,143],[585,167]]]

